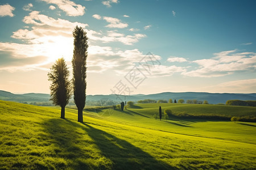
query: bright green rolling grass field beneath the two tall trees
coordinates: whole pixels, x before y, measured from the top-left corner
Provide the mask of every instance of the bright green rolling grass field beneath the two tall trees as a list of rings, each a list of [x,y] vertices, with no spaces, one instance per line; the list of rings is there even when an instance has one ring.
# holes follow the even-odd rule
[[[60,108],[0,101],[0,169],[256,168],[256,123],[160,121],[152,117],[158,107],[85,112],[81,124],[75,109],[62,120]],[[240,114],[255,114],[246,109]]]

